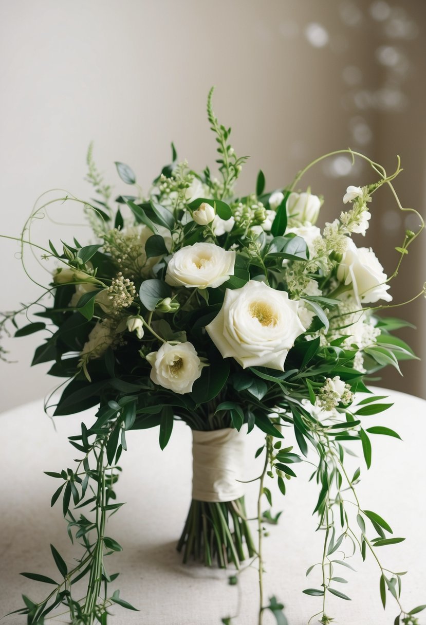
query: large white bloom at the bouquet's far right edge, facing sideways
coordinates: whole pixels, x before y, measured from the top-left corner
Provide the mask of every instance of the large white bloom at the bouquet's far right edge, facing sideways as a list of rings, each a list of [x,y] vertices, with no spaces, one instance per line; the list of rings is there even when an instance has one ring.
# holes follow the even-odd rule
[[[337,279],[345,285],[352,285],[357,302],[372,304],[379,299],[387,302],[392,296],[386,291],[389,284],[385,284],[387,275],[372,249],[357,247],[348,239],[346,251],[337,267]]]

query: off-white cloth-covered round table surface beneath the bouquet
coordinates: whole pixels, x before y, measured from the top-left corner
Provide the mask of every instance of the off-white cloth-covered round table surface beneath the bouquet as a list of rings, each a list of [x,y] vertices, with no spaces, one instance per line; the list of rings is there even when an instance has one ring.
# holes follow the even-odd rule
[[[409,610],[426,603],[426,462],[424,436],[419,435],[425,431],[426,401],[386,389],[377,389],[377,394],[389,395],[394,406],[382,414],[364,417],[365,426],[392,427],[404,442],[375,436],[370,471],[367,473],[362,459],[353,459],[353,466],[363,467],[357,489],[361,506],[384,516],[396,536],[407,537],[400,544],[381,547],[380,556],[389,569],[409,571],[403,577],[402,594],[402,604]],[[90,424],[93,414],[87,411],[57,417],[56,431],[42,412],[41,401],[0,415],[0,617],[22,606],[22,593],[35,600],[44,596],[49,588],[46,584],[25,579],[19,572],[54,576],[49,543],[69,563],[76,554],[60,506],[49,507],[56,484],[43,471],[74,466],[76,454],[67,436],[79,432],[82,420]],[[292,444],[290,428],[288,432],[285,437]],[[259,431],[247,437],[247,479],[260,472],[261,460],[254,460],[254,451],[261,442]],[[233,624],[254,625],[258,601],[254,569],[241,574],[238,586],[229,586],[227,577],[232,571],[184,566],[175,549],[191,497],[189,428],[177,423],[164,451],[159,449],[157,428],[132,432],[127,445],[129,451],[122,455],[123,473],[116,487],[117,501],[126,502],[126,506],[108,525],[109,536],[119,541],[124,551],[107,557],[107,567],[109,572],[121,571],[114,583],[121,596],[141,611],[114,606],[111,624],[219,625],[223,617],[234,615],[240,604]],[[358,443],[354,451],[360,452]],[[282,510],[283,514],[277,526],[270,526],[264,541],[265,596],[275,594],[284,602],[289,625],[306,625],[321,609],[320,597],[302,594],[303,589],[320,584],[315,572],[319,567],[305,577],[307,568],[322,556],[322,536],[315,533],[316,517],[312,516],[317,486],[309,482],[311,471],[309,464],[299,464],[298,477],[288,482],[285,497],[277,492],[274,481],[266,484],[273,493],[274,511]],[[256,486],[257,482],[247,485],[249,516],[255,514]],[[253,532],[255,536],[255,527]],[[357,572],[345,569],[349,584],[340,586],[352,601],[330,597],[327,613],[337,624],[391,625],[397,609],[391,596],[386,611],[382,608],[377,563],[369,555],[362,562],[358,554],[350,562]],[[26,619],[11,616],[3,622],[19,625]],[[62,617],[51,622],[65,621]],[[274,617],[265,614],[264,625],[272,623]]]

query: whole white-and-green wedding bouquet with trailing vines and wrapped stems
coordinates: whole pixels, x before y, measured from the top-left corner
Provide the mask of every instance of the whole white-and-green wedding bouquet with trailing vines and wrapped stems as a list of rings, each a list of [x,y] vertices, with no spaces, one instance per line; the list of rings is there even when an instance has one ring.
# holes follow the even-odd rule
[[[263,597],[262,538],[265,522],[277,521],[262,512],[264,498],[272,506],[265,479],[277,481],[282,494],[290,480],[297,487],[295,464],[309,452],[315,464],[312,479],[319,485],[314,511],[324,534],[324,555],[319,584],[304,592],[322,598],[315,616],[323,625],[332,620],[325,611],[327,597],[349,599],[339,591],[342,578],[334,572],[350,565],[346,557],[336,559],[335,552],[350,555],[359,548],[365,558],[367,550],[404,540],[390,536],[392,529],[377,512],[362,508],[355,492],[360,469],[354,476],[345,469],[352,444],[360,442],[368,468],[370,435],[398,436],[385,426],[363,425],[362,417],[390,406],[371,394],[365,381],[388,364],[399,370],[399,361],[415,357],[392,334],[408,324],[378,315],[399,304],[377,302],[392,300],[389,282],[422,229],[422,218],[418,232],[405,232],[390,277],[372,249],[360,243],[380,187],[390,187],[401,210],[412,210],[401,206],[392,185],[399,162],[388,176],[364,155],[341,151],[367,161],[376,179],[349,186],[346,209],[321,230],[315,224],[323,200],[309,189],[301,191],[299,182],[330,155],[273,192],[265,191],[260,171],[255,191],[239,197],[235,182],[246,159],[237,158],[230,146],[230,129],[217,121],[211,98],[212,91],[207,113],[219,153],[217,177],[209,168],[192,171],[177,160],[172,146],[172,163],[146,194],[132,169],[116,163],[132,192],[112,202],[111,187],[90,149],[87,179],[98,199],[87,202],[66,194],[44,202],[19,239],[22,254],[27,245],[35,246],[56,267],[51,284],[33,302],[42,305],[34,312],[37,320],[17,329],[16,336],[49,330],[32,364],[53,361],[49,374],[65,378],[55,416],[98,406],[91,426],[82,423],[81,432],[70,439],[79,452],[75,469],[47,472],[60,482],[52,505],[62,497],[69,535],[83,552],[69,570],[52,546],[60,581],[23,573],[54,586],[41,601],[24,597],[26,605],[18,612],[28,615],[29,624],[42,624],[57,606],[66,606],[72,623],[86,624],[106,623],[114,603],[135,609],[119,591],[109,593],[117,574],[110,574],[104,562],[106,554],[121,549],[106,535],[106,521],[122,505],[114,485],[132,429],[159,427],[164,449],[175,421],[191,427],[192,502],[178,549],[185,562],[195,557],[207,566],[217,561],[220,567],[239,569],[247,557],[257,563],[259,623],[265,609],[285,622],[282,604],[275,597],[267,604]],[[81,204],[92,229],[89,244],[67,237],[59,249],[57,242],[42,247],[31,241],[32,222],[54,202]],[[18,312],[28,314],[31,306]],[[4,314],[2,325],[11,321],[17,327],[16,314]],[[357,402],[356,392],[369,396]],[[265,434],[257,451],[257,456],[264,454],[264,469],[256,540],[242,473],[242,446],[254,427]],[[299,449],[285,444],[287,427],[294,429]],[[350,495],[355,506],[348,506]],[[406,612],[400,604],[400,574],[382,564],[379,568],[383,604],[389,591],[399,606],[395,623],[414,624],[414,615],[425,606]],[[84,577],[86,596],[77,600],[73,584]]]

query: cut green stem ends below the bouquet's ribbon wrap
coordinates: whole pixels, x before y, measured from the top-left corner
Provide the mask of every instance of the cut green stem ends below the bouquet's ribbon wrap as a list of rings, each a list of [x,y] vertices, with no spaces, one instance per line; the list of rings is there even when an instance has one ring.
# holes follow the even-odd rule
[[[184,564],[194,557],[204,562],[205,566],[212,566],[216,559],[222,569],[230,562],[239,569],[247,554],[252,557],[256,553],[245,514],[244,497],[225,502],[192,499],[177,543],[177,551],[182,550]]]

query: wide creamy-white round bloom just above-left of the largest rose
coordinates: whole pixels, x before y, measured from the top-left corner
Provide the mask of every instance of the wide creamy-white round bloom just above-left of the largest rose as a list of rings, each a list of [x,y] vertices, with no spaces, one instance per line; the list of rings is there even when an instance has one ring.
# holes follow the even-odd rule
[[[171,286],[215,288],[234,275],[234,265],[235,251],[225,251],[214,243],[194,243],[173,254],[166,282]]]

